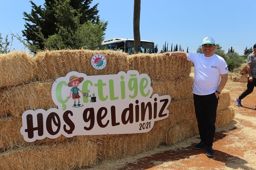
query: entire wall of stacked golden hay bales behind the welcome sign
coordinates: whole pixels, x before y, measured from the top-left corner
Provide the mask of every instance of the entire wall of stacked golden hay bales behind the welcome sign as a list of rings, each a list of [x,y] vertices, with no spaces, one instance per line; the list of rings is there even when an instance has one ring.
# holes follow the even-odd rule
[[[107,66],[91,65],[95,54],[104,55]],[[174,144],[197,134],[192,98],[191,63],[182,57],[161,54],[127,55],[119,51],[44,51],[34,57],[25,52],[0,55],[0,169],[72,169],[91,166],[103,159],[118,159]],[[57,108],[51,88],[55,79],[70,71],[91,75],[138,70],[151,78],[153,94],[170,95],[170,115],[156,121],[148,133],[45,138],[28,143],[20,134],[21,115],[26,110]],[[222,100],[223,99],[223,100]],[[216,126],[234,117],[230,96],[221,93]]]

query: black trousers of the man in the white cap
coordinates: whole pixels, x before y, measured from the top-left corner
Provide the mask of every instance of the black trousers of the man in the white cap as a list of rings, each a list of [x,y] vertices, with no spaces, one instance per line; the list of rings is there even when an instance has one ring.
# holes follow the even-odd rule
[[[209,95],[194,94],[194,106],[201,141],[211,146],[215,134],[218,100],[215,93]]]

